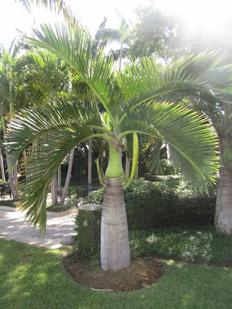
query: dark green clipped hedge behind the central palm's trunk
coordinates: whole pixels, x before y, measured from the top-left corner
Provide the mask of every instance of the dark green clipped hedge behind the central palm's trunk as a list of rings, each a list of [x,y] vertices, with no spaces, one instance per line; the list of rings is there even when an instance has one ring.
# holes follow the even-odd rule
[[[125,191],[130,230],[213,225],[216,187],[209,196],[196,192],[185,181],[178,183],[133,181]],[[104,191],[91,192],[86,203],[101,204]]]

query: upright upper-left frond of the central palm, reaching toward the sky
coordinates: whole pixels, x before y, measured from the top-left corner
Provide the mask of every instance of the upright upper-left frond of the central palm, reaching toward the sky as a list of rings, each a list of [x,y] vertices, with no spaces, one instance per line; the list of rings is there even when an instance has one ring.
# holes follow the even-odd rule
[[[89,32],[80,26],[58,24],[55,30],[51,25],[43,25],[41,31],[34,30],[34,32],[38,39],[31,38],[30,41],[36,46],[54,52],[75,69],[113,119],[108,108],[112,93],[110,81],[113,59],[106,60],[102,49],[98,52],[97,58],[93,58]]]

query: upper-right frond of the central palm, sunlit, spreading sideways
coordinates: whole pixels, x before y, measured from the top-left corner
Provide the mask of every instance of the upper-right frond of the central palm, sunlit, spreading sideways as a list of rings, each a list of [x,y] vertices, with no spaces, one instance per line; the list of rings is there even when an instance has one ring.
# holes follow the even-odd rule
[[[212,96],[216,95],[212,92],[213,84],[202,79],[202,75],[217,67],[222,60],[223,57],[216,53],[200,54],[186,56],[162,67],[154,58],[143,58],[141,62],[126,65],[126,69],[117,75],[117,83],[130,106],[152,98],[181,100],[199,91]]]

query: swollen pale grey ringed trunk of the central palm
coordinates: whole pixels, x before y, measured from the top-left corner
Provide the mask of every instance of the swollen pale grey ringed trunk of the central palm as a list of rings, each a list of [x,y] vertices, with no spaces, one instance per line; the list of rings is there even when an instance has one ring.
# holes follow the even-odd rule
[[[109,179],[102,207],[101,262],[104,270],[119,270],[130,264],[124,191],[120,179]]]

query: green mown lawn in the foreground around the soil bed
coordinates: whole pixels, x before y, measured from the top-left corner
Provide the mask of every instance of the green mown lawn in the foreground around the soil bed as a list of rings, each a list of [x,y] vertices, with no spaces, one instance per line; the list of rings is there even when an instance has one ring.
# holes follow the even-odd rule
[[[232,308],[232,269],[167,262],[165,275],[143,290],[95,292],[62,267],[65,249],[0,240],[0,308]]]

